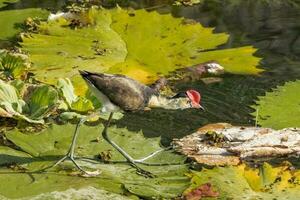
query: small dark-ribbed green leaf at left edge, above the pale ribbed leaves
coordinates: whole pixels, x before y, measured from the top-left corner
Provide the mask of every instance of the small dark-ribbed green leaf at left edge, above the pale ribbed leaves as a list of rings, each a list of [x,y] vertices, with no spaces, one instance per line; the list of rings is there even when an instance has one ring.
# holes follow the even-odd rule
[[[21,78],[29,67],[30,62],[26,55],[0,50],[0,71],[6,78]]]

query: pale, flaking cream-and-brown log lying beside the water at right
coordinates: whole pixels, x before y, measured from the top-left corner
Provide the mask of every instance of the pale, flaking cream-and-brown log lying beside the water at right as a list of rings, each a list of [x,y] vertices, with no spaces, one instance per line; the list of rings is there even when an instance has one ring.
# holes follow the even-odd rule
[[[218,137],[222,140],[215,139]],[[177,151],[199,163],[237,165],[240,160],[300,155],[300,129],[277,131],[219,123],[174,140],[173,145]]]

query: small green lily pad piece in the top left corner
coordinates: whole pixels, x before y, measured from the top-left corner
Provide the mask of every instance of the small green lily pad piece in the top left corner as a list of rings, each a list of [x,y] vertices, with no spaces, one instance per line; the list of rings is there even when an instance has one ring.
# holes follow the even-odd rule
[[[48,11],[39,8],[28,8],[21,10],[5,10],[0,12],[0,40],[8,40],[19,33],[21,24],[28,17],[46,18]]]

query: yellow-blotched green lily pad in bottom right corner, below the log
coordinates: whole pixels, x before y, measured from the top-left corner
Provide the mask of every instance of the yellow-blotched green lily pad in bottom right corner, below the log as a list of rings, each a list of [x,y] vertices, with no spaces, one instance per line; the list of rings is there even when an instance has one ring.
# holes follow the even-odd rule
[[[192,185],[185,193],[211,183],[220,194],[218,199],[297,199],[300,195],[299,170],[293,172],[288,166],[272,167],[265,163],[260,169],[245,165],[203,168],[190,176]]]

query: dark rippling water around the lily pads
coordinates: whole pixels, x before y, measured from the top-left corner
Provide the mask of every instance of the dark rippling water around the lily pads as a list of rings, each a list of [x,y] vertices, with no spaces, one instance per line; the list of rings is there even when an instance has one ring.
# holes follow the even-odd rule
[[[120,3],[120,2],[119,2]],[[104,1],[112,6],[112,1]],[[130,113],[116,122],[120,127],[142,130],[147,137],[162,136],[168,141],[173,137],[190,134],[198,127],[213,122],[236,125],[253,125],[250,107],[257,96],[300,79],[300,1],[299,0],[202,0],[193,7],[172,6],[168,1],[125,1],[123,6],[147,8],[160,13],[186,17],[215,32],[230,35],[228,42],[219,48],[253,45],[261,57],[259,68],[265,72],[258,76],[225,74],[223,81],[205,85],[201,81],[172,83],[177,90],[195,88],[201,91],[206,112],[195,110]],[[57,10],[65,1],[22,0],[3,9],[42,7]],[[155,27],[154,27],[155,28]],[[295,91],[297,92],[297,91]],[[300,91],[298,91],[300,92]]]

